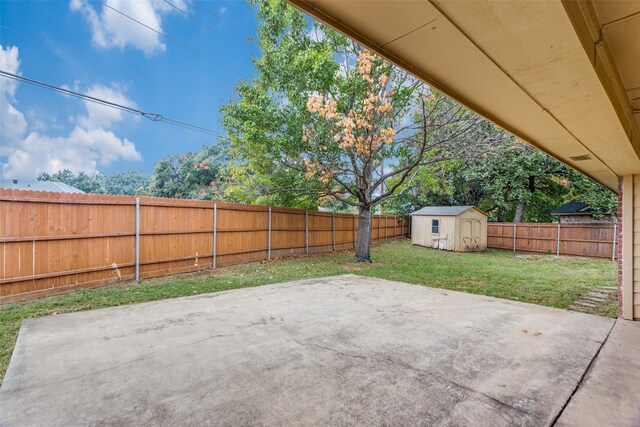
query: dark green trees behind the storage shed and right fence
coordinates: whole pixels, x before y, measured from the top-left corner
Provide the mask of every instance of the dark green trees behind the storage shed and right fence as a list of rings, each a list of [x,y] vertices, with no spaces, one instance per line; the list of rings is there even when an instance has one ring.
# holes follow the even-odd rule
[[[482,156],[422,168],[385,209],[405,214],[428,205],[475,205],[492,220],[551,222],[557,220],[551,211],[573,199],[591,206],[595,217],[617,211],[609,189],[512,138]]]

